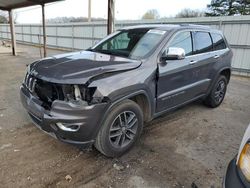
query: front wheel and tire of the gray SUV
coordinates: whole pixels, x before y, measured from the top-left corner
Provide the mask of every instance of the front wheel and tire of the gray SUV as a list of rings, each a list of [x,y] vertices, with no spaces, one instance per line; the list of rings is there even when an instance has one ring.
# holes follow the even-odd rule
[[[124,100],[108,112],[97,135],[95,147],[107,157],[119,157],[133,147],[140,137],[142,128],[141,108],[131,100]]]

